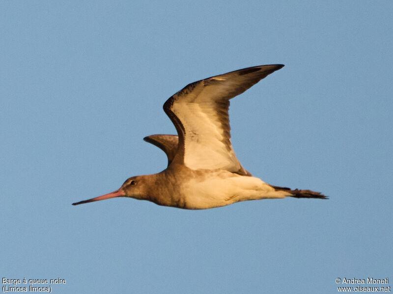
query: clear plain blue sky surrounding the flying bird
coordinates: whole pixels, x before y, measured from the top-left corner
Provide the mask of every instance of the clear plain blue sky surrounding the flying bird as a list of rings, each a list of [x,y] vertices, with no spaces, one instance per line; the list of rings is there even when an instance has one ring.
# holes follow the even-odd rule
[[[55,294],[393,286],[392,14],[392,1],[1,1],[1,278],[65,279]],[[277,63],[231,100],[236,154],[329,200],[71,205],[166,168],[142,138],[175,133],[162,105],[185,85]]]

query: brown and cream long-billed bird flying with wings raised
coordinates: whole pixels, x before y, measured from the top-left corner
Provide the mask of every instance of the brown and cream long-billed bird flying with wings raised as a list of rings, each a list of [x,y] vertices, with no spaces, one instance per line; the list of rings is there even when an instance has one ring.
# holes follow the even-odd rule
[[[177,135],[143,138],[166,153],[167,168],[132,176],[112,193],[72,204],[130,197],[197,210],[266,198],[327,199],[319,192],[274,186],[254,177],[240,164],[232,147],[229,100],[283,66],[254,66],[188,84],[163,106]]]

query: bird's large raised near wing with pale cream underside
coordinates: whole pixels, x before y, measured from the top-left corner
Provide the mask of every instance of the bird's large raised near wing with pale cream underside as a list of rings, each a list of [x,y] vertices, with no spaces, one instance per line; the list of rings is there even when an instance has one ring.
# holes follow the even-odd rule
[[[243,93],[283,65],[263,65],[212,76],[187,85],[164,103],[179,146],[173,162],[190,169],[224,169],[250,175],[230,141],[229,99]]]

